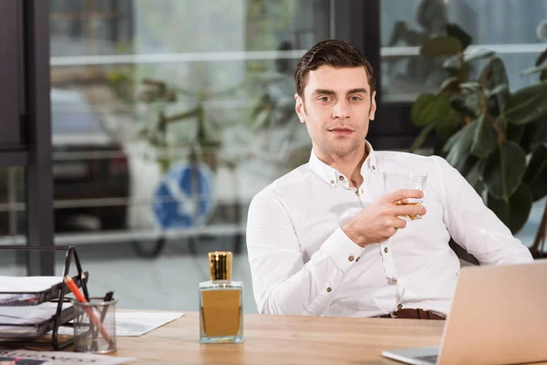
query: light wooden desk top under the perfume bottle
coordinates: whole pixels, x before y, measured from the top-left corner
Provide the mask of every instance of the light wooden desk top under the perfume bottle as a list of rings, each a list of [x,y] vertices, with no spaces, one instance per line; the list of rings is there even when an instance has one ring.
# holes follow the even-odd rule
[[[384,349],[438,345],[444,321],[266,316],[243,318],[243,344],[199,341],[199,317],[183,317],[138,338],[119,337],[116,356],[137,364],[400,364]]]

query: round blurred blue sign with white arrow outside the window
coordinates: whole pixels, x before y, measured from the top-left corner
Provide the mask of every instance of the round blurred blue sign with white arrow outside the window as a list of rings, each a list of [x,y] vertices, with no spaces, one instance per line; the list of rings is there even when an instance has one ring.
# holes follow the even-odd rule
[[[193,176],[192,176],[193,175]],[[212,214],[214,176],[204,163],[173,165],[154,193],[152,209],[162,228],[205,224]]]

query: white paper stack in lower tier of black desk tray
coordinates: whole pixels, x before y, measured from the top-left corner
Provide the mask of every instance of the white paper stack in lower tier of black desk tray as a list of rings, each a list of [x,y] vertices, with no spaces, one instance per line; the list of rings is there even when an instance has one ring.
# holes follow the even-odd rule
[[[71,306],[72,303],[63,303],[63,310]],[[38,324],[53,317],[56,311],[57,303],[54,302],[28,307],[0,307],[0,325]]]

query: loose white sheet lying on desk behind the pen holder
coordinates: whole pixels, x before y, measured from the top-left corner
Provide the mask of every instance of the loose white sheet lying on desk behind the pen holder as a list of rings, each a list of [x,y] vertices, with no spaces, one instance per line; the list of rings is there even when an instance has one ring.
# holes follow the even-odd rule
[[[116,312],[116,336],[142,336],[182,316],[181,312]],[[74,329],[59,327],[58,333],[74,336]]]

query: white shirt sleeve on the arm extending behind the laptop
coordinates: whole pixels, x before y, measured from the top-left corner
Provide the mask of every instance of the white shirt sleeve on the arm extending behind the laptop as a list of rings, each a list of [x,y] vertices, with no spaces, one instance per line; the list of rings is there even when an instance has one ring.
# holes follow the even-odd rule
[[[443,220],[454,241],[481,265],[527,263],[530,250],[511,235],[470,183],[444,159],[436,156],[439,183],[445,197]]]

